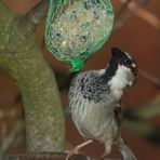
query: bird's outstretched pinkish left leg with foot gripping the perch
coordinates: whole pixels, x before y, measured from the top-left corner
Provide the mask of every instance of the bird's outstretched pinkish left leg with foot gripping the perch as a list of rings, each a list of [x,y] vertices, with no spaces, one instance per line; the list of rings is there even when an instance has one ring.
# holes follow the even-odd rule
[[[65,152],[67,152],[66,160],[68,160],[72,155],[78,154],[78,151],[81,148],[83,148],[84,146],[88,146],[91,143],[93,143],[93,139],[89,139],[82,144],[77,145],[74,149],[65,151]]]

